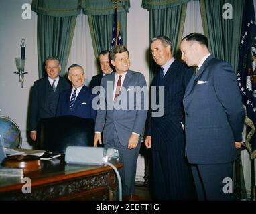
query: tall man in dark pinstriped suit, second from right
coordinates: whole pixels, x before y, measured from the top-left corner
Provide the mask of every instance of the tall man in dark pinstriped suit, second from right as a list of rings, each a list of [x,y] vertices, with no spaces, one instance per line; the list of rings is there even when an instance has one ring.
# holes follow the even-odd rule
[[[185,158],[182,128],[182,98],[193,70],[173,58],[172,43],[168,37],[153,38],[151,54],[156,64],[161,66],[160,72],[151,84],[151,98],[153,96],[159,102],[159,109],[150,109],[145,132],[145,145],[152,150],[155,198],[196,199],[192,172]],[[164,92],[161,91],[161,87],[164,88]],[[156,88],[156,94],[152,88]],[[157,115],[157,111],[162,111],[162,114]]]

